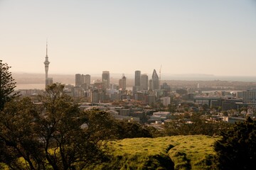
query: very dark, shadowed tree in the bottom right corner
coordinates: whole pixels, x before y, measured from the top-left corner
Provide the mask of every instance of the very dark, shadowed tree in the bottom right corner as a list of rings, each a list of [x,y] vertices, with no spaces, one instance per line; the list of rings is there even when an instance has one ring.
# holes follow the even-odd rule
[[[218,169],[253,169],[256,166],[256,121],[236,123],[215,142]]]

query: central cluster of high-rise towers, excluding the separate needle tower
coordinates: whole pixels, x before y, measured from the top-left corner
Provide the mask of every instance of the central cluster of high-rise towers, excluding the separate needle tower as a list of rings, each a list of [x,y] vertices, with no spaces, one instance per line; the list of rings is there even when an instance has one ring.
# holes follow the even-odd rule
[[[122,75],[119,84],[110,82],[110,72],[103,71],[102,79],[90,81],[89,74],[75,74],[75,86],[66,85],[65,93],[75,98],[86,98],[91,103],[107,103],[110,101],[135,100],[148,105],[162,100],[167,106],[170,103],[168,96],[171,88],[168,84],[159,86],[159,77],[154,69],[152,79],[147,74],[135,71],[134,86],[127,89],[127,78]]]

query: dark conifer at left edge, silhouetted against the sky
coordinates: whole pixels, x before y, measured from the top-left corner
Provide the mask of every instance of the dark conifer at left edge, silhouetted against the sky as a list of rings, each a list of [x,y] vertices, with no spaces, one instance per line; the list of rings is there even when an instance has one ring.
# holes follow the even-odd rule
[[[8,64],[2,63],[2,60],[0,60],[0,111],[7,101],[11,101],[11,99],[18,96],[18,92],[14,93],[16,82],[14,82],[11,72],[9,72],[10,68]]]

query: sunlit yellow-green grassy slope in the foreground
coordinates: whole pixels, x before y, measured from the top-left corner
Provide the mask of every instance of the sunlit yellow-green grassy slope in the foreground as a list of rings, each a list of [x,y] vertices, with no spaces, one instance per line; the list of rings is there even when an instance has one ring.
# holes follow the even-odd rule
[[[210,169],[215,140],[191,135],[110,142],[112,162],[93,169]]]

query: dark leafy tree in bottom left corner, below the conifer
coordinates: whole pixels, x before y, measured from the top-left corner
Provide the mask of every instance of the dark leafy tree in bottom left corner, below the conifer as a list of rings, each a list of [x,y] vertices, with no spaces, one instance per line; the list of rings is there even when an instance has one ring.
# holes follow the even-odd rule
[[[8,102],[0,112],[0,161],[11,169],[26,169],[18,162],[19,157],[23,157],[30,169],[41,169],[43,149],[34,132],[38,113],[30,98]]]

